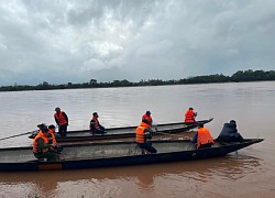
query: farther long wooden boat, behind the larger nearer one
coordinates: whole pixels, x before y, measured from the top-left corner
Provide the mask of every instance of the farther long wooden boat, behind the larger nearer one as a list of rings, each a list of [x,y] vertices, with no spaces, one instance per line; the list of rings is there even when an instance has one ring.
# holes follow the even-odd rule
[[[200,120],[200,123],[211,122],[213,118],[208,120]],[[164,123],[152,127],[153,134],[175,134],[185,131],[189,131],[194,128],[197,128],[197,123],[186,123],[186,122],[176,122],[176,123]],[[81,141],[94,141],[94,140],[110,140],[110,139],[125,139],[135,136],[135,127],[125,127],[125,128],[109,128],[106,129],[106,134],[96,134],[92,135],[89,130],[79,130],[79,131],[68,131],[66,138],[56,136],[56,141],[61,142],[81,142]],[[34,131],[29,138],[34,139],[37,134],[37,131]]]

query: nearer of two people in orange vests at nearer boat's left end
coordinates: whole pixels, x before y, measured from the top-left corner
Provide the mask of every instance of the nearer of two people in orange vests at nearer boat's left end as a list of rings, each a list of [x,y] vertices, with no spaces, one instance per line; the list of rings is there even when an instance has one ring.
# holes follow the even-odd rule
[[[47,161],[56,161],[57,154],[51,152],[52,145],[48,144],[48,129],[45,127],[40,130],[33,140],[33,154],[36,158],[46,158]]]

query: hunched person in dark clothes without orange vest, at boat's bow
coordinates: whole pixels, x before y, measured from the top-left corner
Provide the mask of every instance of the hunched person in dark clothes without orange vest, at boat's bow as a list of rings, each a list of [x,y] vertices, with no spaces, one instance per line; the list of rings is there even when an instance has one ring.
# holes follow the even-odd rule
[[[231,120],[229,123],[224,123],[223,128],[218,136],[219,142],[243,142],[243,138],[238,133],[237,123]]]

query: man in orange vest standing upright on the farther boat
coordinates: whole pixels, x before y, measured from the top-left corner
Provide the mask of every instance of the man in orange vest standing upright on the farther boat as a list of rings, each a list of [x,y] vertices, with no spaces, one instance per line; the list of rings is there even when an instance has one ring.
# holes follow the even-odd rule
[[[58,134],[61,136],[67,135],[67,127],[68,127],[68,117],[64,111],[61,111],[61,108],[55,108],[54,119],[56,124],[58,125]]]

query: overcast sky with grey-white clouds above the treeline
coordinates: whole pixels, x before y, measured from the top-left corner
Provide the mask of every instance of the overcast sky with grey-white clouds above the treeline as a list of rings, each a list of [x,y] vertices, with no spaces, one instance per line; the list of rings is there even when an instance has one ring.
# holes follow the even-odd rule
[[[1,0],[0,86],[275,69],[274,0]]]

